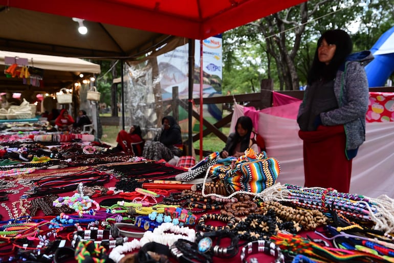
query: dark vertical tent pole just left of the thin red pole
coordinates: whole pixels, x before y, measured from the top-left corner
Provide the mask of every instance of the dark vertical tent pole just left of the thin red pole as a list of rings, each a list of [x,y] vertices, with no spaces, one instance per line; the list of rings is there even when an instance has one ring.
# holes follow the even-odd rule
[[[187,140],[187,155],[192,156],[193,145],[193,74],[194,74],[194,39],[189,38],[189,99],[188,99],[188,140]]]

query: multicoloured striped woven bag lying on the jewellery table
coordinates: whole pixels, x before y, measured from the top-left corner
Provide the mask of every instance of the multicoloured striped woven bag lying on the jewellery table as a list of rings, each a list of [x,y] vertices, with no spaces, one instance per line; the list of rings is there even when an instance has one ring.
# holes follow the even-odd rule
[[[259,193],[273,186],[279,176],[280,165],[275,158],[260,159],[239,164],[224,178],[228,192],[247,191]]]

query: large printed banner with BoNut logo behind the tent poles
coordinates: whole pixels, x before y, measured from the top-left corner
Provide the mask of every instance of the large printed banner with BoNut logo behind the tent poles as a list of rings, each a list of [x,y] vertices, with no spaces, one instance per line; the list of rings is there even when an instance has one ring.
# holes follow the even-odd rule
[[[178,86],[181,99],[188,98],[188,46],[188,44],[180,46],[157,57],[163,100],[172,99],[173,86]],[[221,35],[203,40],[203,97],[205,98],[222,96],[222,50]],[[200,40],[195,40],[193,83],[193,98],[199,98]],[[212,116],[213,122],[222,119],[221,104],[206,104],[203,109],[203,115]],[[187,122],[187,112],[180,109],[180,124],[183,119]]]

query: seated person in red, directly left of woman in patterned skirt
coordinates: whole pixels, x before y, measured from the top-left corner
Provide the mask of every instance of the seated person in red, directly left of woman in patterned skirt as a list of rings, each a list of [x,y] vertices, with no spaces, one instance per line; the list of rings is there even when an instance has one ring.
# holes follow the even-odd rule
[[[128,133],[122,129],[116,138],[118,145],[113,150],[124,151],[127,154],[142,156],[144,140],[142,139],[141,127],[132,125]]]

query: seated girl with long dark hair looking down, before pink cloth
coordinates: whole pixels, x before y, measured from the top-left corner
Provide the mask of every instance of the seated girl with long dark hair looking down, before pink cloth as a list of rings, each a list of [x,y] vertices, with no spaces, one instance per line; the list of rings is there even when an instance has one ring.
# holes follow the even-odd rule
[[[227,139],[226,146],[220,152],[220,157],[227,158],[229,156],[243,156],[245,150],[253,149],[255,152],[265,150],[265,146],[258,145],[257,135],[253,130],[252,119],[248,116],[239,117],[235,124],[235,132],[231,133]],[[262,140],[262,138],[260,137]],[[260,141],[260,140],[259,140]],[[262,141],[264,143],[264,141]]]

